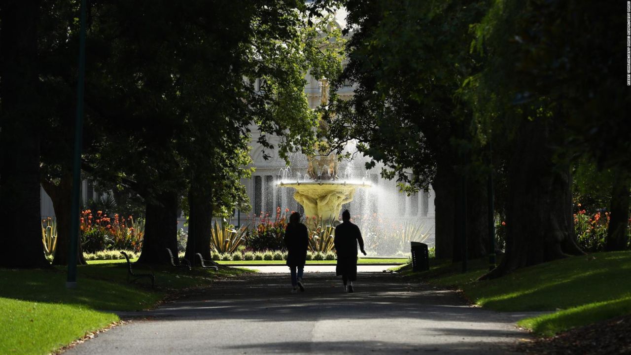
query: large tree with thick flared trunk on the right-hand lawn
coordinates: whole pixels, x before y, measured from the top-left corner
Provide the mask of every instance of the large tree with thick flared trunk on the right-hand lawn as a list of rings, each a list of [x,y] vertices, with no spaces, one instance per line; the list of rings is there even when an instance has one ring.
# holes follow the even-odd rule
[[[570,158],[560,150],[567,130],[562,105],[543,90],[530,90],[528,75],[515,63],[524,53],[521,38],[530,28],[524,18],[533,15],[528,1],[493,3],[480,25],[475,25],[473,48],[487,54],[483,70],[467,81],[476,121],[486,130],[500,127],[510,137],[507,164],[509,198],[505,205],[506,255],[483,278],[499,277],[516,268],[579,255],[572,224]],[[538,60],[535,66],[546,65]],[[543,81],[541,88],[554,88]]]

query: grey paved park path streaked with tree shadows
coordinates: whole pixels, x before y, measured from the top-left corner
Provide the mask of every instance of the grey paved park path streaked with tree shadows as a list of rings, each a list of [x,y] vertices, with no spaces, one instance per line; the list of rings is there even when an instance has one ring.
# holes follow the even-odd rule
[[[250,274],[152,311],[64,354],[510,354],[524,314],[467,306],[453,291],[360,273],[344,293],[331,273]]]

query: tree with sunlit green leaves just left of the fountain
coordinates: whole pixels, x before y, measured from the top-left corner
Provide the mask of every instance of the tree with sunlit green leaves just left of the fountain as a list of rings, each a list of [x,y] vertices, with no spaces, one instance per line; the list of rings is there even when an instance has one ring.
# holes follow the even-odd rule
[[[235,205],[245,207],[239,180],[250,172],[242,166],[249,162],[251,127],[259,131],[257,142],[264,149],[278,148],[282,158],[309,149],[316,114],[304,94],[305,74],[333,78],[341,69],[339,31],[326,16],[307,21],[301,2],[261,1],[222,11],[227,13],[210,28],[222,40],[199,44],[198,52],[208,59],[194,66],[193,74],[205,73],[213,85],[201,83],[201,91],[194,79],[188,85],[198,109],[189,116],[191,139],[186,140],[191,176],[187,258],[193,251],[209,256],[211,214],[220,217]],[[204,65],[208,61],[215,65]],[[269,136],[281,137],[278,147]]]

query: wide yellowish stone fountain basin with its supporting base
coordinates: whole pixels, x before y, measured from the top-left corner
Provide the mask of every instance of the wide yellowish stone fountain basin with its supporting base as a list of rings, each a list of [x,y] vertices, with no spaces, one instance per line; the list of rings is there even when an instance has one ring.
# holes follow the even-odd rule
[[[305,215],[317,215],[325,221],[337,220],[342,205],[353,201],[357,188],[369,188],[369,183],[347,181],[281,181],[281,187],[294,188],[293,198],[305,208]]]

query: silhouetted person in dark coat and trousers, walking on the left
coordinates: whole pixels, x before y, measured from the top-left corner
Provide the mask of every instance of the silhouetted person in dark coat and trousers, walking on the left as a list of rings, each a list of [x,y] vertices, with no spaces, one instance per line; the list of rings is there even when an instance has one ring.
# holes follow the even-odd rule
[[[305,291],[302,284],[305,262],[307,261],[307,246],[309,246],[309,232],[307,226],[300,223],[300,214],[293,212],[289,216],[289,223],[285,229],[285,245],[287,246],[287,266],[292,273],[292,292]]]

